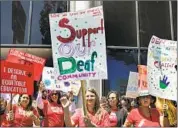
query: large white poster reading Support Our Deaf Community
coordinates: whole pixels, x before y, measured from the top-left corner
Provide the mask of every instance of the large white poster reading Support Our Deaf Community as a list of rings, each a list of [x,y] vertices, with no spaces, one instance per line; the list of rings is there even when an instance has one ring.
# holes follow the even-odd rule
[[[49,20],[56,79],[107,79],[102,6],[49,14]]]

